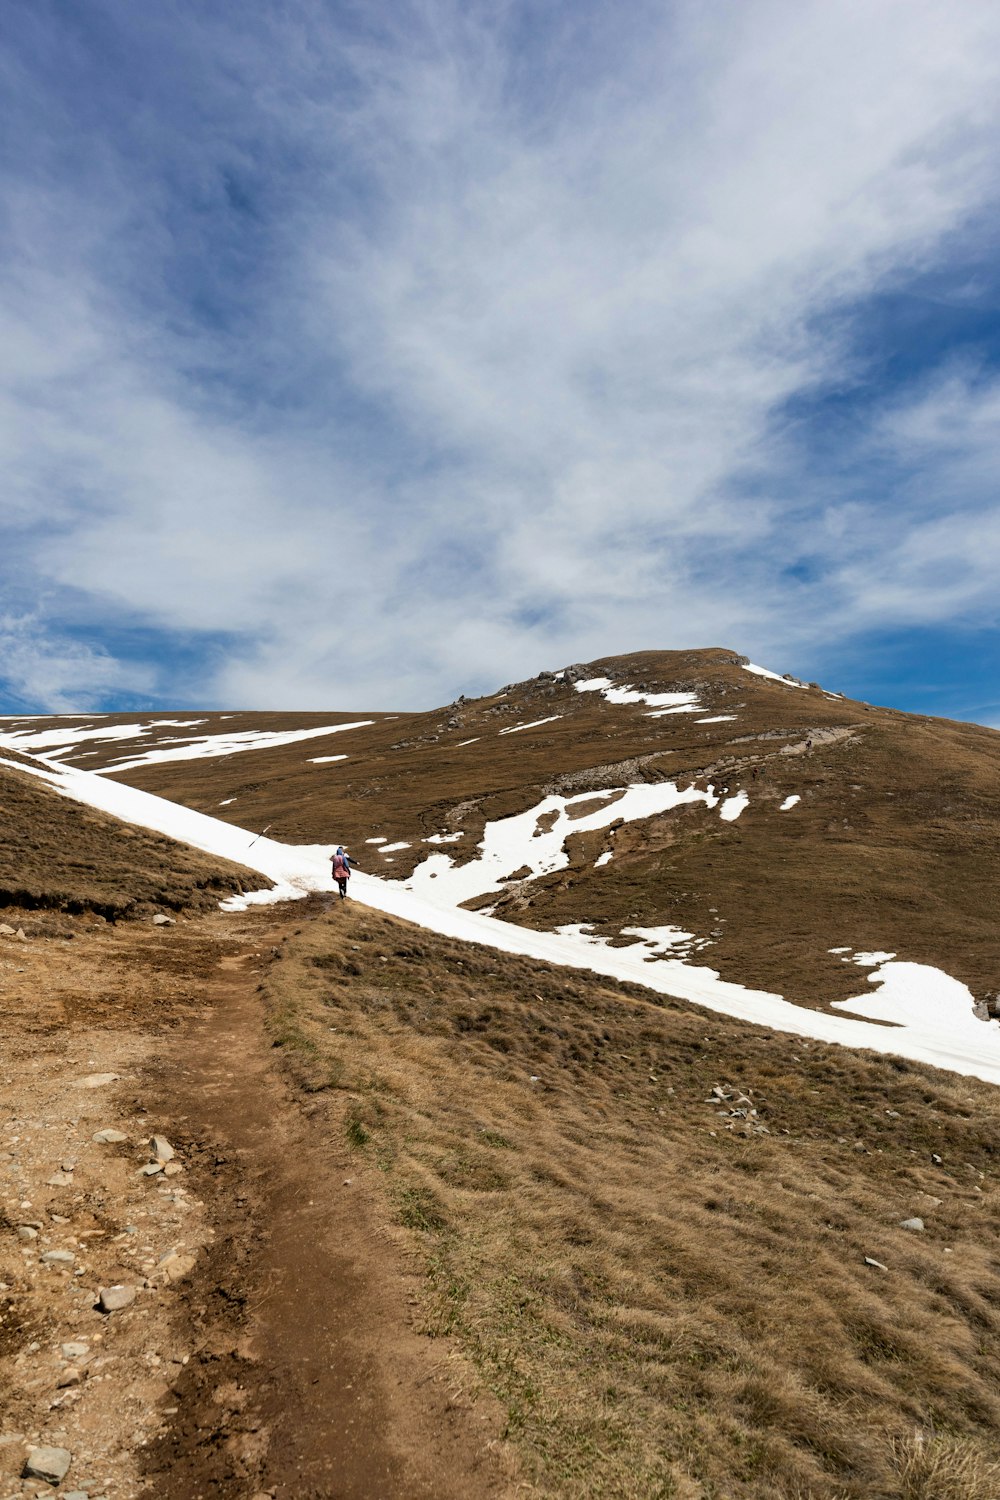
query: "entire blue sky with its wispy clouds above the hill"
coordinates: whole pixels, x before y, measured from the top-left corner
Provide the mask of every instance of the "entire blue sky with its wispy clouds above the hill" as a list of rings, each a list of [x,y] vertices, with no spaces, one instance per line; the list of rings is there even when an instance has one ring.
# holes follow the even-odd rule
[[[0,711],[1000,726],[1000,8],[7,0]]]

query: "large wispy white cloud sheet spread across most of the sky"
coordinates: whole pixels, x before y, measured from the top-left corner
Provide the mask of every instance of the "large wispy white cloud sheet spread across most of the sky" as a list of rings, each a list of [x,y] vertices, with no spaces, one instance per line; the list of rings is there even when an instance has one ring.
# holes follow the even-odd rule
[[[313,164],[237,332],[183,292],[118,294],[123,264],[141,282],[141,256],[181,252],[154,210],[129,218],[114,153],[81,189],[21,186],[0,453],[49,638],[36,678],[21,657],[28,696],[58,698],[60,662],[70,690],[60,620],[103,615],[234,633],[205,700],[405,706],[543,662],[787,657],[921,598],[990,603],[975,382],[865,440],[903,471],[891,508],[798,468],[775,412],[846,368],[823,315],[931,266],[996,192],[996,6],[585,8],[514,50],[519,16],[424,0],[361,36],[303,6],[223,81],[234,39],[192,10],[228,111],[198,190],[255,132]],[[802,552],[823,588],[778,584]]]

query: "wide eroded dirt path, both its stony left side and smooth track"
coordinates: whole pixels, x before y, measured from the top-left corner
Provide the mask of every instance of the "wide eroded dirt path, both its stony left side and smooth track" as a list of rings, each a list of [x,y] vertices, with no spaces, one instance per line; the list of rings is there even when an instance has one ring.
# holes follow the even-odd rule
[[[417,1268],[265,1034],[259,975],[300,921],[78,922],[4,948],[4,1500],[52,1492],[21,1479],[39,1444],[72,1455],[57,1492],[94,1500],[508,1492],[495,1408],[414,1329]],[[109,1284],[130,1292],[111,1316]]]

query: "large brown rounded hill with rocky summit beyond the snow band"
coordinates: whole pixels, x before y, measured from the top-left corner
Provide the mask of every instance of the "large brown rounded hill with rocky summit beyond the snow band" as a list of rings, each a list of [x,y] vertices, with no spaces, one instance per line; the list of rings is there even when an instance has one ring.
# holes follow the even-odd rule
[[[690,692],[702,711],[651,717],[643,704],[543,676],[330,741],[151,764],[123,778],[247,828],[270,824],[276,837],[345,842],[393,878],[442,832],[462,834],[447,852],[469,858],[487,820],[550,792],[660,780],[744,789],[750,804],[735,822],[691,806],[571,837],[570,868],[511,879],[490,898],[496,915],[544,928],[591,922],[612,939],[625,926],[673,924],[706,944],[699,962],[724,978],[805,1005],[856,992],[858,970],[828,951],[846,946],[934,964],[978,998],[1000,988],[996,730],[760,678],[724,650],[606,658],[585,675]],[[208,716],[195,732],[325,722]],[[505,732],[519,724],[534,728]],[[96,766],[127,750],[99,742],[66,759]],[[331,752],[346,759],[316,764]],[[799,801],[781,812],[789,796]],[[409,848],[382,855],[366,844],[379,837]]]

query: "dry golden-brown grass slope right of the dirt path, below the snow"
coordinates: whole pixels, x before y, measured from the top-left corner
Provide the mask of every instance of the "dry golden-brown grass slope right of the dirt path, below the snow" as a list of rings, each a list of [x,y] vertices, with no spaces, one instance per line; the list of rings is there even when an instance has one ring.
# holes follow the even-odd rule
[[[267,998],[537,1492],[991,1492],[994,1090],[351,906]]]

